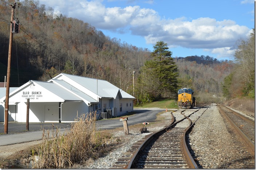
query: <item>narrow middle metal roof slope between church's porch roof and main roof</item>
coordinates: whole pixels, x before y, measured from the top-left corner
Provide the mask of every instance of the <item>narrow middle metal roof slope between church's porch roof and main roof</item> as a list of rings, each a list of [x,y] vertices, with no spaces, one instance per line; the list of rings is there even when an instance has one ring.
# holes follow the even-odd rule
[[[81,98],[83,98],[84,100],[86,100],[90,103],[98,102],[98,101],[94,100],[92,97],[90,97],[87,94],[85,94],[84,92],[82,92],[81,90],[75,88],[74,86],[72,86],[71,84],[69,84],[63,80],[52,79],[51,81],[53,81],[53,83],[57,83],[57,84],[63,86],[67,90],[71,91],[72,93],[77,94],[78,96],[80,96]]]

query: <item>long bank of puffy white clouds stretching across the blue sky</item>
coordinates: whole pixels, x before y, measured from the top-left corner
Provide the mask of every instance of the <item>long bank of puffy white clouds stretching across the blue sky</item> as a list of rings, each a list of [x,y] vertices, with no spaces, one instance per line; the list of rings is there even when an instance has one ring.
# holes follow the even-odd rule
[[[83,20],[97,29],[119,33],[130,32],[132,35],[144,37],[148,44],[164,41],[169,47],[208,49],[223,56],[231,55],[233,53],[231,48],[236,40],[245,38],[250,33],[249,28],[237,25],[232,20],[217,21],[209,17],[193,20],[185,17],[161,19],[153,9],[140,6],[107,8],[102,0],[55,2],[56,4],[51,2],[52,7],[56,7],[64,15]],[[251,1],[244,0],[241,3],[251,3]]]

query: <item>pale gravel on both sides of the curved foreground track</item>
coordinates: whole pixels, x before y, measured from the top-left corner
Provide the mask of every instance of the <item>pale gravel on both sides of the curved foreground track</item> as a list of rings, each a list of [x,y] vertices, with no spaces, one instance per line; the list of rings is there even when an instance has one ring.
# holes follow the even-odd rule
[[[206,111],[205,111],[206,110]],[[205,111],[205,112],[204,112]],[[220,115],[215,104],[208,108],[200,110],[203,115],[195,123],[191,132],[187,135],[189,149],[193,151],[193,157],[196,158],[199,168],[219,169],[219,168],[244,168],[244,153],[235,143],[232,142],[232,136],[228,132],[226,122]],[[173,114],[175,116],[175,114]],[[167,120],[160,126],[148,128],[149,132],[163,129],[171,120],[171,112],[161,114]],[[76,168],[83,169],[109,169],[115,164],[122,153],[126,152],[134,143],[142,139],[149,133],[140,133],[138,131],[130,131],[129,135],[124,135],[124,131],[115,131],[114,136],[120,138],[122,143],[118,149],[112,150],[105,157],[98,158],[89,163],[88,166],[80,166]],[[255,167],[255,159],[251,160],[252,167]],[[245,167],[248,168],[248,167]],[[250,168],[250,167],[249,167]],[[253,168],[254,169],[254,168]]]

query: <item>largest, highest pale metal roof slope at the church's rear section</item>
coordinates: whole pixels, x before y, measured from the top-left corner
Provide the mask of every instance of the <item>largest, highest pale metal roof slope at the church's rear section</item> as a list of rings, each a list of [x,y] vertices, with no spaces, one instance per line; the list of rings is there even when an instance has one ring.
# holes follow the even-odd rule
[[[106,80],[61,73],[101,97],[115,98],[120,91],[122,98],[135,98]]]

